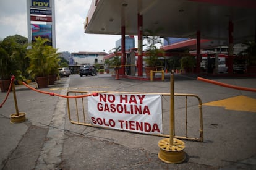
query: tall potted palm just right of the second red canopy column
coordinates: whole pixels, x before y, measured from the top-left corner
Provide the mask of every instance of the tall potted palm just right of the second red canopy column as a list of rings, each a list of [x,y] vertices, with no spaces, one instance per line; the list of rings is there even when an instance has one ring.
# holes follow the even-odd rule
[[[156,70],[157,66],[161,66],[161,64],[163,64],[159,57],[164,57],[164,50],[157,47],[157,45],[163,45],[161,37],[157,35],[160,30],[162,29],[144,30],[143,39],[147,41],[147,44],[143,45],[147,46],[147,52],[145,54],[146,58],[144,59],[147,64],[147,66],[145,66],[147,77],[150,77],[151,70]],[[167,38],[164,39],[169,42]],[[155,75],[155,73],[153,73],[153,75]]]

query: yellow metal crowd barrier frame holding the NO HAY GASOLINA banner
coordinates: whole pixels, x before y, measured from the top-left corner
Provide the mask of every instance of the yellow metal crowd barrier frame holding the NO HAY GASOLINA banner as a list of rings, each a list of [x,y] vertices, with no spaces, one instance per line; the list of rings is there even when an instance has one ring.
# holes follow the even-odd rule
[[[168,99],[165,99],[164,97],[170,96],[170,93],[132,93],[132,92],[117,92],[117,91],[95,91],[97,93],[118,93],[118,94],[153,94],[153,95],[161,95],[162,96],[162,103],[164,101],[164,105],[165,108],[168,108]],[[67,92],[67,96],[72,95],[72,96],[77,96],[77,95],[84,95],[87,94],[88,91],[68,91]],[[174,93],[174,97],[175,98],[182,98],[182,100],[184,100],[184,104],[185,104],[185,113],[184,113],[184,124],[185,124],[185,135],[181,136],[181,135],[176,135],[176,128],[174,125],[174,138],[179,138],[179,139],[186,139],[186,140],[195,140],[198,142],[203,142],[203,113],[202,113],[202,100],[194,94],[183,94],[183,93]],[[164,99],[163,99],[164,98]],[[188,128],[188,123],[189,123],[189,119],[188,119],[188,98],[195,98],[196,100],[198,100],[198,112],[199,114],[198,116],[198,124],[199,124],[199,135],[198,137],[189,137],[189,128]],[[176,100],[174,100],[176,101]],[[98,127],[96,125],[93,124],[89,124],[88,122],[88,112],[87,112],[87,98],[67,98],[67,111],[69,114],[69,120],[72,124],[79,124],[79,125],[86,125],[86,126],[91,126],[91,127]],[[181,104],[180,102],[178,104]],[[194,104],[195,105],[195,104]],[[194,106],[193,105],[193,106]],[[181,109],[182,107],[180,107],[179,109]],[[162,115],[163,115],[163,109],[162,108]],[[165,109],[168,110],[168,109]],[[165,111],[165,117],[169,116],[169,112]],[[177,114],[177,112],[174,114],[174,116],[179,116]],[[165,119],[163,116],[164,120],[168,120],[167,118]],[[168,127],[168,125],[164,124],[164,120],[163,120],[163,127]],[[169,123],[169,122],[167,122]],[[103,128],[103,127],[100,127]],[[194,129],[193,129],[194,130]],[[167,131],[167,130],[166,130]],[[181,131],[181,130],[180,130]],[[156,135],[156,136],[160,136],[160,137],[169,137],[169,135],[167,135],[168,133],[163,133],[163,134],[150,134],[150,135]]]

